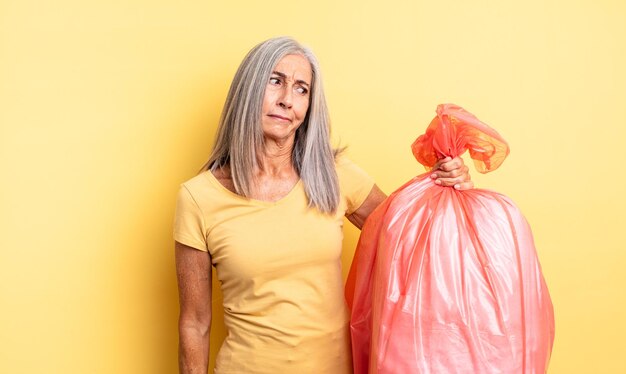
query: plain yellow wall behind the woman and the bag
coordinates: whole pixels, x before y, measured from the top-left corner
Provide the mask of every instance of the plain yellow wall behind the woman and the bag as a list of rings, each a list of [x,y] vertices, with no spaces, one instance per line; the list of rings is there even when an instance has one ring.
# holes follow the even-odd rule
[[[316,52],[334,139],[386,192],[438,103],[496,128],[512,153],[473,177],[533,227],[550,373],[626,372],[622,0],[0,0],[0,372],[177,370],[175,193],[277,35]]]

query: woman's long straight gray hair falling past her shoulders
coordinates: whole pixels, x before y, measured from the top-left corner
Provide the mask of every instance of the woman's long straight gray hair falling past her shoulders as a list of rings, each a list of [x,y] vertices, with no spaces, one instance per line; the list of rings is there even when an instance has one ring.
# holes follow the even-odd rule
[[[313,81],[308,112],[295,134],[293,167],[303,182],[309,206],[334,213],[339,205],[339,181],[319,63],[308,48],[288,37],[258,44],[239,65],[226,97],[213,152],[203,170],[216,171],[228,165],[237,193],[250,196],[253,170],[261,167],[264,152],[261,111],[265,88],[278,62],[294,54],[309,61]]]

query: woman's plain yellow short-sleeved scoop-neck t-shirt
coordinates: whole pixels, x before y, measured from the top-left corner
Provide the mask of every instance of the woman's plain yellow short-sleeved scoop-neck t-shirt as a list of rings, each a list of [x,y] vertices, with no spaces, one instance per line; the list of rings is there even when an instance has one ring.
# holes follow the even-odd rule
[[[346,158],[336,169],[334,215],[307,207],[301,181],[277,202],[232,193],[208,171],[181,186],[174,239],[209,251],[224,296],[216,373],[352,372],[343,217],[374,182]]]

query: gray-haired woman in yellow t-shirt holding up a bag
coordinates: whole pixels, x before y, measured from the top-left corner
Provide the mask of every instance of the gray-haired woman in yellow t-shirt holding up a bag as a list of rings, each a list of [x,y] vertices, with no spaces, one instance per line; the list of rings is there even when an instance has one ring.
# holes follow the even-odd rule
[[[228,335],[216,373],[350,373],[343,217],[361,228],[384,199],[333,151],[318,63],[289,38],[239,67],[206,170],[178,195],[174,238],[182,373],[206,373],[211,266]],[[435,183],[472,187],[460,159]]]

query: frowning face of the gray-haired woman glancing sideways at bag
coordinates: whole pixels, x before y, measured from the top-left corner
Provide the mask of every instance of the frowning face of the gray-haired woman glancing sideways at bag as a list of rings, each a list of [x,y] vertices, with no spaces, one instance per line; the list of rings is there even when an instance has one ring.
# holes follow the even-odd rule
[[[266,139],[285,141],[295,136],[309,109],[311,64],[301,55],[283,57],[265,87],[262,125]]]

